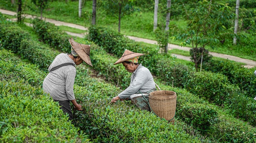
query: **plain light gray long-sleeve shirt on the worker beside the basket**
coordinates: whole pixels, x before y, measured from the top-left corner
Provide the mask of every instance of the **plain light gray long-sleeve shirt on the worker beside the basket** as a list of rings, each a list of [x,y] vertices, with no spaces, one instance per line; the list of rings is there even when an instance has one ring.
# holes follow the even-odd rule
[[[152,89],[155,89],[155,82],[152,74],[148,68],[139,64],[137,69],[132,73],[130,86],[119,93],[118,96],[121,99],[130,99],[130,95],[138,93],[138,91],[145,93]]]

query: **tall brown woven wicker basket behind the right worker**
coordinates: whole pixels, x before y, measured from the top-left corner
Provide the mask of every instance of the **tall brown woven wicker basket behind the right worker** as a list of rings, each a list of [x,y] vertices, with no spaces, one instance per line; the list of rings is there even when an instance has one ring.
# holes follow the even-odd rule
[[[177,96],[174,91],[160,90],[149,93],[149,105],[160,118],[174,122]]]

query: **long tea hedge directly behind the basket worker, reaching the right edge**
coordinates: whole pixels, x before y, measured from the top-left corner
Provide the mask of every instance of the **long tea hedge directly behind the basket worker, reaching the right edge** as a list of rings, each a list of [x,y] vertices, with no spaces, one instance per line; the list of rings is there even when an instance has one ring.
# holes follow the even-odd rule
[[[192,93],[206,98],[210,102],[214,102],[216,105],[223,106],[226,110],[230,111],[234,117],[238,117],[248,121],[252,125],[256,125],[256,115],[254,114],[255,107],[250,106],[254,105],[254,100],[252,98],[247,98],[238,87],[231,85],[225,75],[212,74],[208,72],[196,73],[195,70],[190,67],[175,63],[175,61],[172,60],[173,58],[170,59],[166,56],[161,56],[161,54],[157,54],[156,56],[154,55],[154,52],[153,54],[148,53],[148,51],[153,51],[150,49],[155,49],[153,47],[142,46],[143,48],[141,48],[135,42],[125,37],[121,37],[119,34],[113,33],[115,32],[106,28],[92,26],[89,28],[88,39],[98,42],[108,52],[114,51],[113,54],[115,55],[120,54],[120,52],[115,51],[124,51],[124,49],[131,49],[133,52],[146,53],[146,58],[143,58],[143,60],[147,61],[150,59],[153,63],[144,61],[141,63],[144,63],[146,67],[151,67],[152,70],[150,71],[159,79],[168,81],[166,82],[167,85],[171,85],[173,81],[174,86],[181,88],[185,87]],[[111,40],[113,42],[111,42]],[[118,46],[120,45],[118,43],[119,41],[122,42],[122,47]],[[129,44],[125,45],[125,42]],[[115,46],[115,43],[118,44]],[[115,50],[110,50],[110,47],[115,48]],[[207,76],[202,75],[211,75],[211,78],[206,78]],[[234,103],[239,103],[239,105]]]

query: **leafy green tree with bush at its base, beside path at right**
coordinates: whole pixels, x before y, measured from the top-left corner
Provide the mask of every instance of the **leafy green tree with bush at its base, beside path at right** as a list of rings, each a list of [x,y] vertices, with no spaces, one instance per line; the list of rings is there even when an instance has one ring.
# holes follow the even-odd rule
[[[186,6],[184,6],[185,8]],[[198,70],[198,63],[207,62],[206,46],[214,47],[220,40],[232,39],[234,32],[225,28],[225,24],[234,19],[228,4],[213,4],[212,1],[202,0],[199,5],[184,11],[184,17],[188,25],[184,33],[174,36],[173,39],[181,39],[181,46],[189,44],[191,48],[191,60]],[[204,57],[204,60],[202,59]],[[206,58],[205,58],[206,57]],[[202,65],[202,64],[201,64]]]

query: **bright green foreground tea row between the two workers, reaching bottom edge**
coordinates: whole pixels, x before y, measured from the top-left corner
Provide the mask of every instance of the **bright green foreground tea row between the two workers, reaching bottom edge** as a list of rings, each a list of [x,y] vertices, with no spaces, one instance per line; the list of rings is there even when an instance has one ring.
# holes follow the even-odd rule
[[[141,111],[130,101],[111,104],[113,93],[119,91],[117,87],[99,82],[93,85],[101,90],[75,88],[75,94],[85,105],[82,105],[84,110],[75,115],[79,119],[76,125],[90,135],[93,142],[200,142],[183,132],[182,126],[168,124],[154,114]]]

